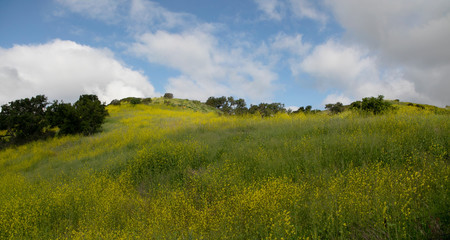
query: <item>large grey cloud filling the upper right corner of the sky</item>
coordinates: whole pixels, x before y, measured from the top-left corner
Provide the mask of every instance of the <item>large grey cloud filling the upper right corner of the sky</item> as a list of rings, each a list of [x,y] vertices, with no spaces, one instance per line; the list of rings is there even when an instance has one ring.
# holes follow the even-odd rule
[[[379,53],[380,64],[401,68],[429,103],[450,103],[450,1],[326,2],[347,39]]]

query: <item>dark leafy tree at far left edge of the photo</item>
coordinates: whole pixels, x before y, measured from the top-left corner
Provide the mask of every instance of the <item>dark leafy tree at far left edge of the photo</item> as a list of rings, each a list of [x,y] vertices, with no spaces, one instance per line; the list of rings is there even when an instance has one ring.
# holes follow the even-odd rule
[[[18,140],[36,138],[47,126],[45,107],[47,97],[37,95],[10,102],[2,106],[0,120],[2,129]]]

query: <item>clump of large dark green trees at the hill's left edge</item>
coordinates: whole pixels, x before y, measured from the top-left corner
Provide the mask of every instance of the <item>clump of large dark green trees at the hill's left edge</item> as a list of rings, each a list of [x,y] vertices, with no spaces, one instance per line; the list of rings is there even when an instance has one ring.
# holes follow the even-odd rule
[[[0,130],[6,130],[2,141],[26,142],[45,135],[93,134],[101,128],[108,111],[96,95],[81,95],[73,105],[53,101],[49,103],[45,95],[24,98],[2,105]]]

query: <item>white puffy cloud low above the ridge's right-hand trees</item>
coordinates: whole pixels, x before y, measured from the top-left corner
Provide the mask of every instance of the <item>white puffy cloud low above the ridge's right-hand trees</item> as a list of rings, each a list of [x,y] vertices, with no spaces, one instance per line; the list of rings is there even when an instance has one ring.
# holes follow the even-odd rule
[[[292,69],[297,75],[308,73],[322,91],[335,91],[325,98],[324,103],[349,103],[377,95],[428,100],[399,70],[380,71],[377,59],[367,51],[334,40],[316,46],[301,62],[293,64]]]

